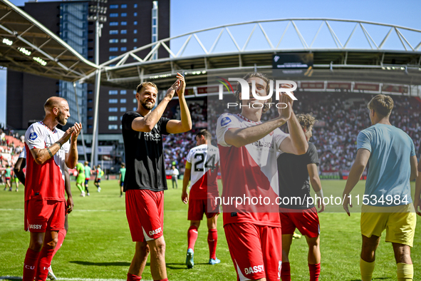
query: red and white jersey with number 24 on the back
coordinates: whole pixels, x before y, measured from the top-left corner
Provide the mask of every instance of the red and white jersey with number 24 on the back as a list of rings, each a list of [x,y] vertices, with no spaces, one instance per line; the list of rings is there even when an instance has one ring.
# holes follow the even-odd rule
[[[219,150],[214,145],[202,144],[190,149],[187,162],[192,164],[190,173],[190,199],[207,199],[219,196]]]

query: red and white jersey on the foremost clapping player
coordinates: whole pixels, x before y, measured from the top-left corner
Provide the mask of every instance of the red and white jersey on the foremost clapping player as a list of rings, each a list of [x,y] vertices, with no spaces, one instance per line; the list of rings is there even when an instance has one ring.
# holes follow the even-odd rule
[[[281,152],[279,145],[289,135],[276,128],[259,141],[240,148],[225,142],[225,133],[229,129],[249,128],[259,124],[261,122],[250,121],[241,114],[224,113],[218,118],[224,225],[254,223],[280,226],[279,206],[276,205],[279,196],[276,153]],[[244,203],[239,200],[236,203],[235,199],[232,202],[231,198],[241,198]]]

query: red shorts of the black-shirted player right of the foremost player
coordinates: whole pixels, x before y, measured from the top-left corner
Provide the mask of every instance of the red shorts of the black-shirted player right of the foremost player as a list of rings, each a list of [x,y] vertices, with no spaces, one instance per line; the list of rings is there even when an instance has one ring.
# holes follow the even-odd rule
[[[279,208],[279,217],[281,218],[282,234],[293,234],[298,228],[302,235],[314,238],[320,234],[320,223],[316,208],[304,209],[293,213],[288,213],[289,209]]]

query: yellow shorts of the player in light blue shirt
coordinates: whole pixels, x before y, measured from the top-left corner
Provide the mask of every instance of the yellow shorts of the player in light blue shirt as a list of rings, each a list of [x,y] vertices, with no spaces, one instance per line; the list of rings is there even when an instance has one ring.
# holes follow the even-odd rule
[[[376,207],[363,205],[361,208],[361,234],[381,236],[386,230],[386,242],[412,247],[417,225],[414,205]]]

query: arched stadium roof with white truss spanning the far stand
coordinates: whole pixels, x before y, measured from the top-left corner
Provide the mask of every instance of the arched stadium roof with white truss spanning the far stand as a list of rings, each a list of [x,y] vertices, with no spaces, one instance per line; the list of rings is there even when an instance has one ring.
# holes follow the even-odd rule
[[[252,21],[194,31],[124,53],[100,65],[101,84],[135,88],[147,80],[167,87],[177,71],[184,71],[188,85],[198,86],[207,83],[207,73],[271,71],[274,53],[311,52],[313,74],[301,80],[421,85],[420,46],[420,30],[391,24],[343,19]],[[167,56],[153,60],[157,50]],[[93,74],[85,81],[93,83]]]

